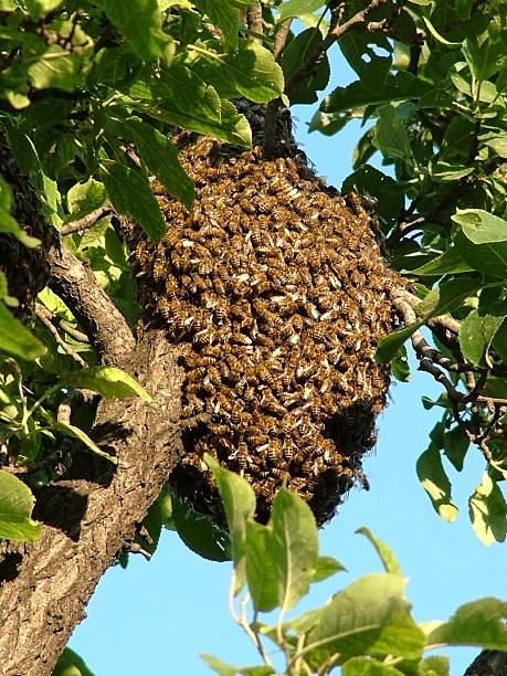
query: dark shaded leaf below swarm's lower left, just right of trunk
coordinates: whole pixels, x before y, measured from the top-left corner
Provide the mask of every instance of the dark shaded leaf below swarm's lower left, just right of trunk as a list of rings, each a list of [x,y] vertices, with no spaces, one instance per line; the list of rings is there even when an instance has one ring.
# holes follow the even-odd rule
[[[209,561],[230,561],[229,536],[172,493],[172,522],[189,549]]]

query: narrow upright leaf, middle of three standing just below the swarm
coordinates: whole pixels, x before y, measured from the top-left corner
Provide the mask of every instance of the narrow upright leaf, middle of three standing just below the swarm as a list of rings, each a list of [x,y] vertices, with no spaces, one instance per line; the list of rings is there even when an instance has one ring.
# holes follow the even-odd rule
[[[273,529],[246,520],[246,581],[256,611],[268,612],[278,605],[278,585],[273,551]]]

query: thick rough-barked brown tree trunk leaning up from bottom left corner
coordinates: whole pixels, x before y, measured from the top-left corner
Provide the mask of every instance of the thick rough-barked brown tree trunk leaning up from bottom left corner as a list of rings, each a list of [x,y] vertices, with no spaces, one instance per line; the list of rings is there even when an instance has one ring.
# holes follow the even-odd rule
[[[180,373],[161,331],[148,334],[128,371],[154,397],[105,401],[96,429],[118,467],[84,454],[81,466],[44,487],[33,546],[7,547],[0,564],[3,676],[46,676],[95,585],[166,483],[178,457]]]

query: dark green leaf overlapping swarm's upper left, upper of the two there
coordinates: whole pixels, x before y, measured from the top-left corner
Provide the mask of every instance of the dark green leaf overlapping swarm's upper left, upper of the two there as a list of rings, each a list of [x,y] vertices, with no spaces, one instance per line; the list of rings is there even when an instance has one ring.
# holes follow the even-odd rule
[[[157,129],[138,119],[129,119],[128,126],[148,169],[155,173],[166,190],[190,209],[193,204],[193,181],[178,160],[172,141]]]

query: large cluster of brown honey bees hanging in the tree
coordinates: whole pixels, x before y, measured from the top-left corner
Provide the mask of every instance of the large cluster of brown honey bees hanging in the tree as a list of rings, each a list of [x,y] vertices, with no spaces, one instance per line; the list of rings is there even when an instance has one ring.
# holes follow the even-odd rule
[[[184,416],[201,420],[171,482],[220,522],[208,452],[251,483],[260,520],[286,482],[323,524],[366,483],[389,384],[373,352],[395,326],[397,276],[360,198],[327,188],[293,149],[179,145],[193,210],[154,182],[167,234],[127,235],[145,321],[181,346]]]

